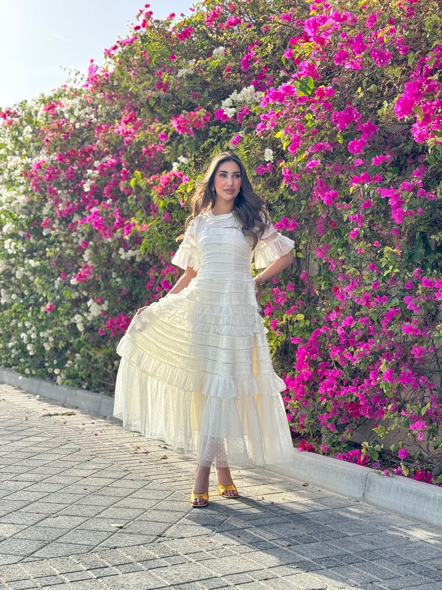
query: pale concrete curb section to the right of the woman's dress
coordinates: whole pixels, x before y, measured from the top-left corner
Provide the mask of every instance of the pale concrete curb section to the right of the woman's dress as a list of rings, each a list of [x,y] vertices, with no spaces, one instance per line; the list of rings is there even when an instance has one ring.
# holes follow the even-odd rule
[[[401,476],[384,476],[332,457],[296,451],[289,464],[266,469],[370,504],[425,525],[442,527],[442,488]]]

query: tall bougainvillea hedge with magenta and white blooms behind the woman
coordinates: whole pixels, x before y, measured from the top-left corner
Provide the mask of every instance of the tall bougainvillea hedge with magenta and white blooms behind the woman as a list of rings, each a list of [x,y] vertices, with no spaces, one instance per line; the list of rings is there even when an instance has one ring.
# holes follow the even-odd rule
[[[118,339],[176,280],[188,196],[230,149],[296,242],[261,303],[299,448],[388,450],[438,483],[438,3],[190,12],[146,5],[105,67],[1,113],[0,363],[111,393]]]

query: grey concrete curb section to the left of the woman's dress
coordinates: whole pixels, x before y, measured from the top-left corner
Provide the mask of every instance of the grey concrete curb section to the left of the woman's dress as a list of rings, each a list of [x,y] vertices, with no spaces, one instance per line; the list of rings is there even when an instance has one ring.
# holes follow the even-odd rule
[[[11,369],[0,369],[0,383],[12,385],[18,389],[29,391],[42,398],[54,399],[67,408],[78,408],[87,412],[95,412],[102,416],[112,416],[114,398],[110,395],[95,394],[85,389],[75,389],[67,385],[56,385],[44,379],[22,377]]]

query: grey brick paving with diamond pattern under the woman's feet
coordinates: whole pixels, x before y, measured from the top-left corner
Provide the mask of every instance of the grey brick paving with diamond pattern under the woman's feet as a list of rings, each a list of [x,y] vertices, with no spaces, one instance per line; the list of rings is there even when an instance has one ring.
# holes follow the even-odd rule
[[[0,384],[2,590],[442,590],[441,530],[259,469],[192,509],[194,461],[65,411]]]

